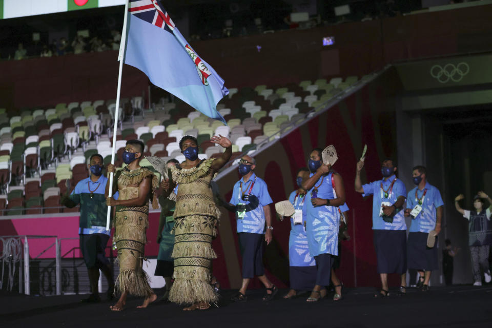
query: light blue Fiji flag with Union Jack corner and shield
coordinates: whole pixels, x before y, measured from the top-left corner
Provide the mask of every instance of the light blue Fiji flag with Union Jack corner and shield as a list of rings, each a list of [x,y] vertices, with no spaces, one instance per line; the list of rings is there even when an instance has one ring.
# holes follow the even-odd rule
[[[224,80],[186,42],[157,0],[130,0],[124,63],[203,114],[226,123],[217,103]]]

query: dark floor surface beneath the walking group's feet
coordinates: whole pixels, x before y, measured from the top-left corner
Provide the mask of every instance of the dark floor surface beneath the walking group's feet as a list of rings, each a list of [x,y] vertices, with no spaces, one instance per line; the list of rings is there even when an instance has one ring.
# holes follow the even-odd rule
[[[404,297],[391,290],[384,299],[374,299],[370,288],[346,289],[341,301],[329,295],[317,303],[306,303],[309,295],[284,300],[283,290],[265,303],[262,293],[251,291],[247,302],[232,303],[233,291],[222,291],[219,308],[194,312],[159,301],[136,309],[141,298],[129,298],[124,311],[111,312],[115,301],[79,303],[87,295],[2,294],[0,327],[492,327],[492,285],[409,289]]]

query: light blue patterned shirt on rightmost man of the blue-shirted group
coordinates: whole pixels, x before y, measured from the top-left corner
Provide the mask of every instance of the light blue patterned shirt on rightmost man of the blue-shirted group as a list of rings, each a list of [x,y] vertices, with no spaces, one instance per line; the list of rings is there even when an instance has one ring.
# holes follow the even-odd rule
[[[406,208],[412,210],[418,203],[418,199],[423,197],[425,190],[427,190],[427,192],[425,193],[425,198],[423,198],[422,211],[416,218],[412,217],[412,224],[408,230],[409,232],[428,233],[436,227],[436,209],[443,206],[444,202],[442,201],[439,189],[430,185],[430,183],[426,182],[423,190],[419,190],[418,187],[415,187],[408,192]],[[415,199],[416,191],[418,199]]]

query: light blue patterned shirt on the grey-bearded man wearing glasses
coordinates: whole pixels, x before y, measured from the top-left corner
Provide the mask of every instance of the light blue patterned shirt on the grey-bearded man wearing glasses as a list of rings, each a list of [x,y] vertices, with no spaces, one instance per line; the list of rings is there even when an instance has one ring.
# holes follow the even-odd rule
[[[238,199],[238,195],[241,194],[241,182],[242,191],[244,194],[248,194],[252,184],[254,183],[253,189],[251,190],[251,195],[258,198],[259,204],[256,209],[246,212],[242,219],[238,218],[236,213],[237,232],[263,234],[265,232],[265,213],[263,212],[263,206],[273,202],[270,194],[268,193],[267,183],[257,177],[255,173],[253,173],[246,182],[244,182],[241,178],[236,182],[232,191],[231,204],[233,205],[237,205],[238,203],[249,204],[249,201]]]

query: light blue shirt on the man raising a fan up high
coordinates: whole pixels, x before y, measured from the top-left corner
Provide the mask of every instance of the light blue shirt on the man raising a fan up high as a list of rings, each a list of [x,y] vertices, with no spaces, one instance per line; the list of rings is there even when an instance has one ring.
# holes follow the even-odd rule
[[[395,179],[396,181],[393,184],[393,189],[391,189],[391,184]],[[381,183],[383,189],[387,191],[388,197],[385,197],[384,191],[381,190]],[[394,204],[399,196],[406,197],[405,185],[400,179],[396,178],[396,175],[392,175],[387,180],[382,179],[367,183],[362,186],[362,189],[364,190],[362,196],[373,195],[373,230],[406,230],[404,216],[405,204],[403,204],[402,210],[395,214],[392,223],[385,222],[382,216],[379,216],[381,203],[383,201]]]

